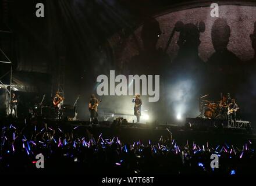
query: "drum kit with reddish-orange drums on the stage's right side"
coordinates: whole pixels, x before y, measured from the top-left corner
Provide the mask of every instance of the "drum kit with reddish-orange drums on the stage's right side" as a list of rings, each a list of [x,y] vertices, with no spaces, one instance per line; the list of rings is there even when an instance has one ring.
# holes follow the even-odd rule
[[[202,117],[205,119],[227,119],[227,103],[202,100]]]

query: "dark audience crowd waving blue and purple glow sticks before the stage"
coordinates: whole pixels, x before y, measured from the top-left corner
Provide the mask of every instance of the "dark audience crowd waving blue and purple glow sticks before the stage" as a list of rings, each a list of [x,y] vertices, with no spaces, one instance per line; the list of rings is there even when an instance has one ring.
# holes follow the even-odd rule
[[[80,173],[80,174],[250,174],[256,165],[253,140],[243,146],[210,146],[186,141],[177,144],[171,131],[158,142],[140,140],[126,144],[119,137],[104,138],[79,127],[65,131],[47,124],[1,123],[0,171],[3,173]],[[44,169],[37,169],[35,158],[44,155]],[[219,157],[219,168],[212,168],[211,155]]]

